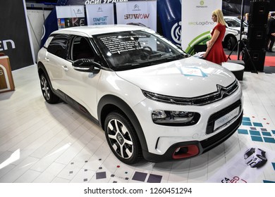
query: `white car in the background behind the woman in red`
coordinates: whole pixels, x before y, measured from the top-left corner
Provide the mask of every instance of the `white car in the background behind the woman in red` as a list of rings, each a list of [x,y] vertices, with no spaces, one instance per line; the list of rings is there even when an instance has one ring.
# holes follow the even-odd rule
[[[224,16],[224,20],[226,21],[226,33],[224,34],[223,40],[224,46],[228,50],[233,50],[234,46],[236,46],[238,40],[240,39],[241,21],[237,17],[233,16]],[[244,22],[242,39],[247,39],[247,31],[248,25]],[[237,49],[237,47],[235,49]]]

